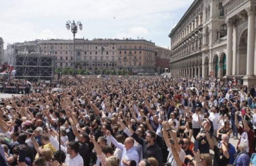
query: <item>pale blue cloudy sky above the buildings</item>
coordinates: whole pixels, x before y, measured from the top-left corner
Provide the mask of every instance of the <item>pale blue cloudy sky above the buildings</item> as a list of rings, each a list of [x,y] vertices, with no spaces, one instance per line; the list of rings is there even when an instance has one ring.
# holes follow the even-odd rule
[[[72,39],[67,20],[80,21],[76,38],[144,38],[170,47],[168,34],[193,0],[2,0],[0,37],[7,43]],[[114,17],[116,17],[114,19]]]

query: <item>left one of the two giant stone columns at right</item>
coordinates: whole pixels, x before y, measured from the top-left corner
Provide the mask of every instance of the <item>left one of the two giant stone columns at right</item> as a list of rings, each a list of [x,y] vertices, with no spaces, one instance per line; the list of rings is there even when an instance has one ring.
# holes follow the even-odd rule
[[[233,51],[232,51],[232,39],[233,39],[233,20],[228,19],[225,21],[227,25],[227,76],[232,75],[232,62],[233,62]]]

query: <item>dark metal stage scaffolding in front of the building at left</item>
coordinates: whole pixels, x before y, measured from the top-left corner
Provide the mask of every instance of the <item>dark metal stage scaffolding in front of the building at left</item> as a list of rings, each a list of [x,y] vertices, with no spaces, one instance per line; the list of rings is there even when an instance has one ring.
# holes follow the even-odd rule
[[[54,56],[38,52],[15,51],[10,55],[8,64],[14,66],[16,79],[30,82],[48,80],[53,82]]]

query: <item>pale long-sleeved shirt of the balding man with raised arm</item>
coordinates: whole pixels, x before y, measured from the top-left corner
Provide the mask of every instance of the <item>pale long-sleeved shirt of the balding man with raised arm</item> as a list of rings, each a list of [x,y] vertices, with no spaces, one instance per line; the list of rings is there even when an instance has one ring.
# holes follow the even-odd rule
[[[117,142],[117,140],[114,139],[113,136],[108,136],[108,137],[111,140],[111,142],[114,144],[114,146],[116,146],[117,148],[123,150],[122,158],[120,160],[120,166],[125,166],[124,163],[122,162],[123,159],[126,159],[127,161],[128,160],[134,160],[134,161],[136,161],[136,165],[139,164],[139,154],[135,150],[134,147],[126,150],[126,148],[124,147],[124,144],[121,144],[121,143]]]

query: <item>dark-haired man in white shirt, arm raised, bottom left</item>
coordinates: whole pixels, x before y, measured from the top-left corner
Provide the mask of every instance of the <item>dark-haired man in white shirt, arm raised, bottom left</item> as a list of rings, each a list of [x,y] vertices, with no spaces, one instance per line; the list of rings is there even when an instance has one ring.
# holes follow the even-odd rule
[[[53,137],[50,136],[49,138],[50,142],[56,148],[56,150],[59,150],[59,142]],[[69,166],[83,166],[83,158],[79,155],[79,143],[76,141],[71,141],[67,144],[67,148],[61,146],[60,147],[64,153],[67,153],[65,164]]]

